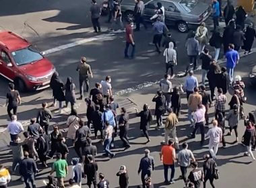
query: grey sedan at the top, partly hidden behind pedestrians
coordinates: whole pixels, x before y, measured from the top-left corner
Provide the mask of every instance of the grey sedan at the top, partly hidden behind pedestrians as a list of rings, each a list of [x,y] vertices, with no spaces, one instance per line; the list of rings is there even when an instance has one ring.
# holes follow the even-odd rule
[[[146,0],[143,17],[151,21],[155,14],[156,3],[164,6],[164,17],[167,26],[175,26],[180,32],[197,28],[211,15],[211,5],[199,2],[199,0]],[[133,19],[134,0],[121,1],[121,10],[125,19]]]

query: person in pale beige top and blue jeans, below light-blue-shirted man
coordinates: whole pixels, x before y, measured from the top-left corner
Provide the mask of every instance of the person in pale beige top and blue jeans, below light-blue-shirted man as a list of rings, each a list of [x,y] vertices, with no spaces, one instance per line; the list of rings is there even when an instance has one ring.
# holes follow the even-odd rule
[[[105,155],[110,156],[110,158],[113,158],[115,154],[110,151],[109,147],[112,141],[112,135],[113,135],[113,126],[110,126],[108,122],[105,122],[105,130],[104,130],[104,150],[105,150]]]

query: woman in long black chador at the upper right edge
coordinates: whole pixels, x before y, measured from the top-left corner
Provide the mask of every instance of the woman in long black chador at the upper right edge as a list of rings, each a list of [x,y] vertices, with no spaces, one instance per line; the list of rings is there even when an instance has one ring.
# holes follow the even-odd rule
[[[251,23],[249,26],[247,26],[245,32],[245,41],[243,46],[245,54],[251,53],[251,46],[253,46],[254,38],[256,38],[256,32],[255,29],[253,28],[253,23]]]

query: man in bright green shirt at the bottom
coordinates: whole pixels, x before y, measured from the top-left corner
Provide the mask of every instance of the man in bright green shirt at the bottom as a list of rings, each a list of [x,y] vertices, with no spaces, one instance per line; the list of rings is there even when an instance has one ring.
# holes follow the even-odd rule
[[[64,179],[68,173],[67,161],[65,159],[61,159],[61,153],[56,154],[56,161],[53,163],[53,168],[51,170],[50,175],[56,172],[57,177],[57,185],[60,188],[65,188]]]

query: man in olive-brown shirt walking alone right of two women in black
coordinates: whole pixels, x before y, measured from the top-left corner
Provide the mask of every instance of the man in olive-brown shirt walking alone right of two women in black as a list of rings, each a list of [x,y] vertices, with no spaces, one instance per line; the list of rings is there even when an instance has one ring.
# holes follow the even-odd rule
[[[79,72],[79,100],[83,99],[84,96],[84,83],[86,83],[86,92],[89,91],[89,75],[92,76],[92,69],[90,64],[86,63],[86,57],[82,57],[80,63],[77,65],[76,71]]]

